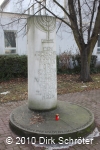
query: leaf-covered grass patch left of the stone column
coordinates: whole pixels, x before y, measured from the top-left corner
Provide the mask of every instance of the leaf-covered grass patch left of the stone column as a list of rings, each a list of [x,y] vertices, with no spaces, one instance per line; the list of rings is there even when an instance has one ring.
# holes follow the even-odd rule
[[[0,102],[17,101],[28,99],[27,80],[15,79],[0,83]],[[9,94],[6,94],[10,91]]]

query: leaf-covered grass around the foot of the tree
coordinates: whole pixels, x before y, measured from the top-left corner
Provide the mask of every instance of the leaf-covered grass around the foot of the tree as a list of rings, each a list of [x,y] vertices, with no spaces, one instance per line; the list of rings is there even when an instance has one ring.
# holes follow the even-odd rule
[[[58,75],[58,94],[89,91],[100,88],[100,74],[91,75],[93,82],[79,82],[78,75]]]

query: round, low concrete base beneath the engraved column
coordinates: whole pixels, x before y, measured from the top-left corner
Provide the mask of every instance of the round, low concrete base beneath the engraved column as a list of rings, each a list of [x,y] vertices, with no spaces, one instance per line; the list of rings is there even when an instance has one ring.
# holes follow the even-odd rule
[[[55,115],[59,114],[59,120]],[[31,111],[25,104],[13,110],[10,127],[24,137],[63,139],[85,137],[94,129],[94,115],[82,106],[58,101],[57,109],[47,112]],[[43,139],[42,139],[43,140]],[[45,143],[44,143],[45,144]]]

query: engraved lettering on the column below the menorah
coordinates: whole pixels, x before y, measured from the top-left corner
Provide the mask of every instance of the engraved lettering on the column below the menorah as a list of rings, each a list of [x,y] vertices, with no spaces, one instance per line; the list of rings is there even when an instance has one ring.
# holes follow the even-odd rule
[[[56,92],[56,52],[52,47],[43,47],[42,51],[35,53],[39,61],[37,77],[34,81],[38,85],[36,95],[41,95],[42,100],[52,99]]]

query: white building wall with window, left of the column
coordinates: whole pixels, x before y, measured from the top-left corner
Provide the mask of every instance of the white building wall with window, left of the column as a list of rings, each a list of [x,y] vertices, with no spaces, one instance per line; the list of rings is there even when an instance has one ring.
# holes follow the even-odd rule
[[[26,24],[27,15],[23,19],[19,14],[1,13],[0,26],[0,54],[27,54],[27,36],[22,27]],[[9,24],[12,22],[11,24]]]

